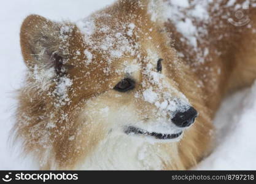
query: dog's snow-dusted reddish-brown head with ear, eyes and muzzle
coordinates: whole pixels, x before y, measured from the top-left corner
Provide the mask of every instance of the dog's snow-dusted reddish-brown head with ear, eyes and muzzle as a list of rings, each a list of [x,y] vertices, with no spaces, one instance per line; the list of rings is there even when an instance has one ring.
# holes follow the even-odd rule
[[[118,2],[76,24],[37,15],[24,21],[29,88],[18,128],[55,156],[82,155],[110,134],[177,141],[198,116],[185,95],[195,93],[187,89],[193,75],[138,2]]]

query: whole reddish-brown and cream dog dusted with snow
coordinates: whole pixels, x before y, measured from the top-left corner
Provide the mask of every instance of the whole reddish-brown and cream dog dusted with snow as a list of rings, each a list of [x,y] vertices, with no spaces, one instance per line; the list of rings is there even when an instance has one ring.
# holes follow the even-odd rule
[[[41,169],[195,166],[220,100],[256,78],[255,4],[234,26],[247,1],[199,1],[118,1],[77,23],[27,17],[14,127],[25,153]],[[179,125],[192,107],[193,126]]]

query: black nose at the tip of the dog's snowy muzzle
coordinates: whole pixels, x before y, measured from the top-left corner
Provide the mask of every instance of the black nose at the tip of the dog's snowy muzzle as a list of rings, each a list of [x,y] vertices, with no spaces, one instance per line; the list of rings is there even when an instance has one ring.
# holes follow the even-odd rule
[[[198,116],[197,111],[193,107],[190,107],[185,112],[177,112],[174,115],[173,119],[171,120],[176,126],[184,128],[192,125],[192,123],[195,122],[195,118],[197,116]]]

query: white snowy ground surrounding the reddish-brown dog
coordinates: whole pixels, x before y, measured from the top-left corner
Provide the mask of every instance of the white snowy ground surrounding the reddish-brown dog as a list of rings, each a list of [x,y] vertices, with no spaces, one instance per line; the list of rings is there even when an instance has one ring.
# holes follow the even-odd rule
[[[0,6],[0,170],[36,169],[12,148],[15,90],[24,79],[19,32],[23,19],[36,13],[52,20],[76,21],[114,0],[9,0]],[[255,61],[256,62],[256,61]],[[214,152],[195,169],[256,169],[256,83],[228,97],[214,125]]]

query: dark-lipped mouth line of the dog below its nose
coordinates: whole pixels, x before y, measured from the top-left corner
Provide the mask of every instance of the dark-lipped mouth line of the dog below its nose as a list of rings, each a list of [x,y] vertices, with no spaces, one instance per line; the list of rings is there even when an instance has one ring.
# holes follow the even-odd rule
[[[143,136],[150,136],[154,137],[155,139],[162,139],[162,140],[168,140],[168,139],[176,139],[177,137],[182,135],[182,131],[178,132],[177,134],[162,134],[158,132],[147,132],[143,129],[136,128],[134,126],[128,126],[128,128],[125,129],[126,134],[141,134]]]

